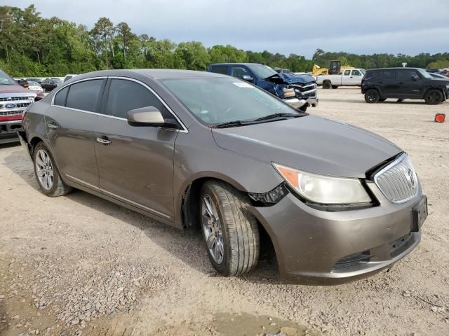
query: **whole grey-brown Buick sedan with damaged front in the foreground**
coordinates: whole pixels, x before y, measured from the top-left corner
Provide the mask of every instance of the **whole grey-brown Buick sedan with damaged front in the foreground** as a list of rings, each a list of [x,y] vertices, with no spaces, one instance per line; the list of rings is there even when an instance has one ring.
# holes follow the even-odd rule
[[[358,279],[412,251],[427,216],[400,148],[217,73],[86,73],[23,120],[42,193],[77,188],[199,227],[225,276],[257,265],[263,233],[284,279]]]

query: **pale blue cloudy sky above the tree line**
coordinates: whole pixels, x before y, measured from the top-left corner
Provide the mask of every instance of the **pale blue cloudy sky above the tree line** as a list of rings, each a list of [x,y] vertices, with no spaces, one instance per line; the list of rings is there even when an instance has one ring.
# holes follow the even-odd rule
[[[127,22],[157,39],[230,44],[243,50],[417,55],[449,52],[448,0],[0,0],[34,3],[44,18],[93,27],[100,17]]]

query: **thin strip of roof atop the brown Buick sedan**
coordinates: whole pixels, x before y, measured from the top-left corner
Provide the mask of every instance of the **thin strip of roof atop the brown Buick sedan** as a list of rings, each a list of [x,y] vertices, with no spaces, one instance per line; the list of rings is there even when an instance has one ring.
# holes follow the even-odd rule
[[[76,80],[101,76],[133,76],[134,74],[148,76],[149,78],[199,78],[199,77],[227,77],[221,73],[178,69],[116,69],[102,70],[77,75]]]

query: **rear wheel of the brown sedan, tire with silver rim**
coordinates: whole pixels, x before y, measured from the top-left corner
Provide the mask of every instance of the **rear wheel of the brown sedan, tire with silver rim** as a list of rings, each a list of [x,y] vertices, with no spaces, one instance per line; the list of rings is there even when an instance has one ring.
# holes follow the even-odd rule
[[[33,166],[34,176],[36,176],[37,184],[39,184],[43,195],[57,197],[67,195],[72,191],[72,187],[62,181],[55,160],[43,142],[39,142],[34,147]]]

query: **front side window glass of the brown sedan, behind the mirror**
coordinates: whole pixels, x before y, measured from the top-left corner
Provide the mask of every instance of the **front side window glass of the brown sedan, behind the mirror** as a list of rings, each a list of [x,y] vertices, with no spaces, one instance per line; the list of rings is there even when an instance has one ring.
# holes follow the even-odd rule
[[[107,97],[107,114],[126,119],[128,111],[146,106],[154,106],[161,111],[163,118],[170,118],[166,107],[143,85],[131,80],[111,80]]]

